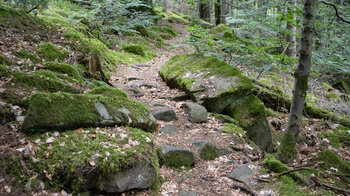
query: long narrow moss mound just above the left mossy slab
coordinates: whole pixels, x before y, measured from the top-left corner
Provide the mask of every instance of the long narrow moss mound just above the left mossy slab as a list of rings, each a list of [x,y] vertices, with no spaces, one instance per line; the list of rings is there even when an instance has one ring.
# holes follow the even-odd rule
[[[76,79],[79,82],[82,82],[83,79],[80,76],[78,70],[73,67],[72,65],[68,65],[65,63],[58,63],[58,62],[49,62],[45,64],[45,69],[48,69],[50,71],[67,74],[68,76]]]

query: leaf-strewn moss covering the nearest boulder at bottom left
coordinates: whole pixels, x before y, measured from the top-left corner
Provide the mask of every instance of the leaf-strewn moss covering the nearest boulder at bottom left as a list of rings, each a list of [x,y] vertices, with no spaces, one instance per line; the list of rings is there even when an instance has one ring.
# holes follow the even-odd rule
[[[79,129],[61,134],[46,133],[32,137],[38,151],[26,160],[29,169],[39,174],[46,187],[75,192],[86,188],[103,189],[103,176],[116,174],[137,164],[151,165],[154,180],[159,186],[159,163],[152,137],[139,129],[119,127],[112,129]],[[40,142],[34,143],[35,140]],[[51,142],[47,142],[51,140]],[[107,145],[108,144],[108,145]],[[48,176],[50,176],[48,178]],[[89,187],[87,184],[100,184]]]

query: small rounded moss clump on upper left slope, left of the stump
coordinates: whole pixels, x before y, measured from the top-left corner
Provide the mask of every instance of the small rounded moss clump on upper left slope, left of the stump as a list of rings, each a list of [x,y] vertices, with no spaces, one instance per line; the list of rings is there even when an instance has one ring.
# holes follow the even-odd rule
[[[66,51],[62,51],[50,42],[40,44],[37,53],[47,61],[63,60],[67,56]]]

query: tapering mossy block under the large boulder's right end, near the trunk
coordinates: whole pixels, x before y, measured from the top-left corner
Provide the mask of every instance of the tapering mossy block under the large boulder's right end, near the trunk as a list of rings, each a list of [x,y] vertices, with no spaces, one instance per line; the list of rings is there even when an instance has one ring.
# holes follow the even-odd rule
[[[265,106],[250,95],[231,103],[225,113],[238,120],[241,127],[247,131],[247,136],[261,149],[272,151],[272,136],[267,124]]]

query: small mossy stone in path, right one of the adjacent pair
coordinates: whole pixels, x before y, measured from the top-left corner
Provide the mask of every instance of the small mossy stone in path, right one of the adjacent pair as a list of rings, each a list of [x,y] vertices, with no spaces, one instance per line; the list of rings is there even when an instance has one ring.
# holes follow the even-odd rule
[[[192,142],[192,144],[198,149],[199,157],[203,160],[214,160],[220,156],[218,147],[207,140]]]

